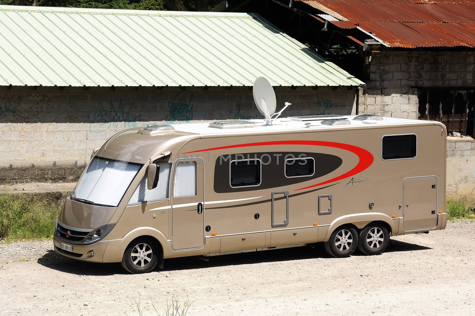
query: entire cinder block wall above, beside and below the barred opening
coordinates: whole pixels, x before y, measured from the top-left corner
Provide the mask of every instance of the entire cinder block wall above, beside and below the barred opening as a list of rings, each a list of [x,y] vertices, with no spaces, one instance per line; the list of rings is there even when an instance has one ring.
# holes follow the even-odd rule
[[[381,51],[373,56],[370,80],[358,112],[417,119],[418,89],[411,86],[475,86],[475,52]],[[475,140],[447,140],[447,196],[475,197]]]

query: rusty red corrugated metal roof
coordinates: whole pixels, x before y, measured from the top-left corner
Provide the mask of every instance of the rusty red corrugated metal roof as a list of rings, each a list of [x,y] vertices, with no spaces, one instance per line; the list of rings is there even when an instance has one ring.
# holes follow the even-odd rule
[[[349,21],[329,22],[360,28],[386,46],[475,47],[475,0],[296,1],[337,12]]]

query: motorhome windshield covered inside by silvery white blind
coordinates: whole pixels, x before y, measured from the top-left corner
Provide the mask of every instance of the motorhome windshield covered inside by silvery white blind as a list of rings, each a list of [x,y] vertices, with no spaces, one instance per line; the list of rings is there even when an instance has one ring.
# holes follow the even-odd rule
[[[73,199],[87,204],[117,206],[141,164],[95,157],[73,191]]]

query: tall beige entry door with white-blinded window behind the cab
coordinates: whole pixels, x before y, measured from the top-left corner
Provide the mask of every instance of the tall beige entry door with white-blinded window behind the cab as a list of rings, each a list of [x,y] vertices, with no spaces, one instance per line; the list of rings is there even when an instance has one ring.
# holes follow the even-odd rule
[[[171,198],[171,247],[204,246],[203,160],[181,159],[175,164]]]

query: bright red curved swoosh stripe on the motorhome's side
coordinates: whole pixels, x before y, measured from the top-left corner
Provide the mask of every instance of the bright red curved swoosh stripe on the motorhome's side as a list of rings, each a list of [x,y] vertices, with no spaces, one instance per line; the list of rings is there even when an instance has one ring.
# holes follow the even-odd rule
[[[218,150],[218,149],[229,149],[229,148],[240,148],[240,147],[251,147],[251,146],[270,146],[270,145],[307,145],[307,146],[325,146],[325,147],[333,147],[333,148],[339,148],[339,149],[344,149],[351,151],[353,154],[358,156],[360,161],[358,161],[358,164],[353,167],[350,171],[345,172],[344,174],[334,177],[330,180],[323,181],[317,184],[314,184],[312,186],[305,186],[300,189],[296,189],[295,191],[298,190],[304,190],[308,189],[314,186],[322,186],[328,183],[332,183],[341,179],[344,179],[346,177],[351,177],[356,175],[357,173],[360,173],[361,171],[367,169],[368,167],[371,166],[371,164],[374,161],[373,155],[371,155],[371,152],[369,152],[366,149],[362,149],[361,147],[349,145],[349,144],[343,144],[343,143],[336,143],[333,141],[321,141],[321,140],[276,140],[276,141],[262,141],[262,142],[257,142],[257,143],[247,143],[247,144],[237,144],[237,145],[229,145],[229,146],[222,146],[222,147],[215,147],[215,148],[208,148],[208,149],[200,149],[200,150],[194,150],[194,151],[188,151],[184,152],[182,154],[191,154],[195,152],[200,152],[200,151],[208,151],[208,150]]]

